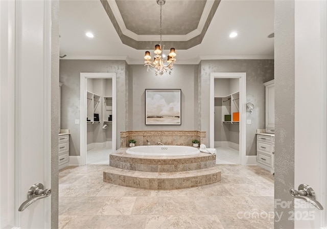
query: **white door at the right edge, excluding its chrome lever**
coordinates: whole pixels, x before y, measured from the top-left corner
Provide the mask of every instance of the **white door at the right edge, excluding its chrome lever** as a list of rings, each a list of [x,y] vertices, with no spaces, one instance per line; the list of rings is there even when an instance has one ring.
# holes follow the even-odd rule
[[[290,214],[295,228],[327,226],[326,13],[326,1],[295,1],[294,189],[301,184],[311,186],[324,208],[319,211],[296,198],[294,215]]]

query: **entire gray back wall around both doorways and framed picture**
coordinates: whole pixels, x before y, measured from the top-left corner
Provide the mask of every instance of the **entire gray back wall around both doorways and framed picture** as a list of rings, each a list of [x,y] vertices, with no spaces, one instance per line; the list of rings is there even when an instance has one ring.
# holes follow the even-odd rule
[[[247,102],[255,106],[252,114],[247,113],[247,119],[252,121],[252,125],[247,125],[247,155],[256,154],[255,131],[265,128],[263,83],[273,79],[273,60],[203,60],[199,65],[175,65],[172,75],[164,76],[155,76],[154,72],[147,72],[144,65],[127,65],[125,61],[60,60],[61,128],[71,131],[69,155],[80,155],[80,126],[75,124],[75,119],[80,119],[81,72],[116,73],[117,146],[120,146],[123,130],[204,130],[209,133],[210,73],[246,72]],[[146,126],[145,89],[167,88],[182,90],[182,124]],[[236,125],[230,128],[238,132]],[[237,139],[235,134],[232,136]],[[208,134],[206,141],[209,142]]]

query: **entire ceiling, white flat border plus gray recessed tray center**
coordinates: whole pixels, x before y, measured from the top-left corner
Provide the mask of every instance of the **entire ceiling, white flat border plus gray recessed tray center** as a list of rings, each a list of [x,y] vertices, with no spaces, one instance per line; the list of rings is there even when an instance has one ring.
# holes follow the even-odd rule
[[[156,0],[60,0],[59,7],[64,59],[144,64],[145,51],[153,53],[160,40]],[[274,32],[272,0],[166,0],[162,17],[162,43],[165,51],[176,48],[176,64],[273,59],[274,38],[268,38]],[[238,36],[230,38],[233,31]]]

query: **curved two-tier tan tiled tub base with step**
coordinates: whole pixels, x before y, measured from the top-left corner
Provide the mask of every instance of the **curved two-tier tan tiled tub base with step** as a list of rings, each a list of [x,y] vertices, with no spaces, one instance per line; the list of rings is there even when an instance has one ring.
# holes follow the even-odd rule
[[[121,148],[110,154],[103,181],[125,187],[173,190],[214,184],[221,180],[216,155],[141,156]]]

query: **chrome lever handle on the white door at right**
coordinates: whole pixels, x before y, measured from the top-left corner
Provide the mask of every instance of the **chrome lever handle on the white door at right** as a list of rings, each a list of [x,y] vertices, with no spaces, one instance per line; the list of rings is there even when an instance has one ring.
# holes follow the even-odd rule
[[[315,191],[310,186],[305,184],[299,185],[298,191],[291,189],[290,193],[294,198],[303,199],[313,204],[317,209],[323,210],[322,205],[316,200]]]

